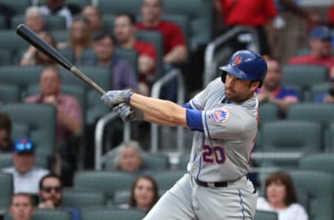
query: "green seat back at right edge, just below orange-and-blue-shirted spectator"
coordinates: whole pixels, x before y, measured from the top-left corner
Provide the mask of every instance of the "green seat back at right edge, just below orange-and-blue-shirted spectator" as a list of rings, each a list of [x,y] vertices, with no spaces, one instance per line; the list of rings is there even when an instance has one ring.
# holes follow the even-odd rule
[[[287,109],[288,120],[308,120],[325,127],[334,121],[334,105],[319,103],[294,104]]]

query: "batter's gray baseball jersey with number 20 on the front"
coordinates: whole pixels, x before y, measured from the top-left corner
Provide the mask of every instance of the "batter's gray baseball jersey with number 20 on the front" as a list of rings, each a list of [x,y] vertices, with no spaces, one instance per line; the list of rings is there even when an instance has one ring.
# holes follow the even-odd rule
[[[257,133],[256,96],[236,104],[225,98],[221,78],[190,101],[202,110],[203,132],[193,134],[188,171],[204,182],[237,180],[248,173]]]

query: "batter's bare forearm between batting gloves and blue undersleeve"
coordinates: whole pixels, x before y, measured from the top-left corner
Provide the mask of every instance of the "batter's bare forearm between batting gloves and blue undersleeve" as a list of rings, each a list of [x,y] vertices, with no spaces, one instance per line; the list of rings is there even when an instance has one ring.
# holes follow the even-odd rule
[[[158,100],[134,93],[130,104],[144,112],[144,120],[159,125],[186,125],[186,109],[166,100]]]

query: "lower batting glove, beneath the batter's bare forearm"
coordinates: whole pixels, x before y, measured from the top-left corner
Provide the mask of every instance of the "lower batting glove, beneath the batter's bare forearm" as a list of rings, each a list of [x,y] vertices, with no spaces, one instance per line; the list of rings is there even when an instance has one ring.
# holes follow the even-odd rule
[[[122,102],[116,107],[113,107],[113,112],[118,113],[118,116],[120,116],[123,121],[141,121],[144,118],[143,111],[140,111],[125,102]]]

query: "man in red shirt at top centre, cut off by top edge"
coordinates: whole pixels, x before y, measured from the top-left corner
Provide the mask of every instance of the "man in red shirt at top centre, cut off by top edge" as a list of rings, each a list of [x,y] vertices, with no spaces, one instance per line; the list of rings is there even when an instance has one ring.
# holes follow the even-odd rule
[[[186,60],[187,48],[184,33],[173,22],[161,19],[161,0],[144,0],[141,8],[143,22],[136,25],[138,30],[159,31],[164,42],[164,63],[167,65],[181,63]]]

